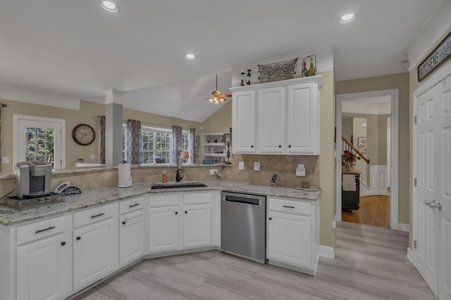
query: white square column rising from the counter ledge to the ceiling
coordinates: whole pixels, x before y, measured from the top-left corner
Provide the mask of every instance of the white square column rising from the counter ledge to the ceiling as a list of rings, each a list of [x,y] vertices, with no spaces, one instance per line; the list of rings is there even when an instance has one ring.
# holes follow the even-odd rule
[[[126,92],[109,89],[105,94],[105,164],[122,163],[122,108]]]

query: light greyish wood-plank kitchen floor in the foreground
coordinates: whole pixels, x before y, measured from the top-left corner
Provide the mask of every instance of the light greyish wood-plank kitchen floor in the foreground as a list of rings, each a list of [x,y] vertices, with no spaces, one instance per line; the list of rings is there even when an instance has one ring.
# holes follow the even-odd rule
[[[407,233],[342,222],[316,276],[218,251],[141,261],[75,299],[435,299],[407,260]]]

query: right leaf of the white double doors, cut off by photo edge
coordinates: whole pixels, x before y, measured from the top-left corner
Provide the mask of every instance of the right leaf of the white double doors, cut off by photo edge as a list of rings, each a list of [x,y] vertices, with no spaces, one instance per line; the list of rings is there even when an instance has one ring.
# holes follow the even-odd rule
[[[451,76],[437,86],[438,161],[435,202],[438,214],[438,299],[451,299]],[[441,209],[440,209],[441,207]]]

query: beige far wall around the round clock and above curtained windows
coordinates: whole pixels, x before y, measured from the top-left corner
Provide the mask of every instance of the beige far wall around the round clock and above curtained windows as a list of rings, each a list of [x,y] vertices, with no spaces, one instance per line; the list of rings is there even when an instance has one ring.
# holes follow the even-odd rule
[[[73,167],[73,163],[78,158],[85,159],[85,162],[100,162],[100,118],[105,115],[103,104],[80,101],[80,110],[69,110],[47,105],[23,103],[11,100],[1,100],[1,103],[8,105],[2,110],[2,156],[9,157],[10,163],[2,164],[3,171],[13,170],[13,115],[30,115],[35,117],[48,117],[66,120],[66,167]],[[190,122],[183,119],[156,115],[149,112],[137,110],[123,110],[123,119],[137,119],[143,126],[161,126],[171,128],[173,125],[182,126],[183,129],[199,129],[199,123]],[[96,132],[94,143],[87,146],[78,145],[72,139],[72,129],[75,125],[85,123],[92,126]],[[95,159],[90,159],[90,155],[95,155]]]

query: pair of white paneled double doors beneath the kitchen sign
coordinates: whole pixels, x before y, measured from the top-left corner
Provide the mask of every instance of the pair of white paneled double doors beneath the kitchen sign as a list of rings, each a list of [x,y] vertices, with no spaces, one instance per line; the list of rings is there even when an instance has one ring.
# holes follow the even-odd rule
[[[438,299],[451,299],[451,76],[418,96],[414,112],[416,268]]]

